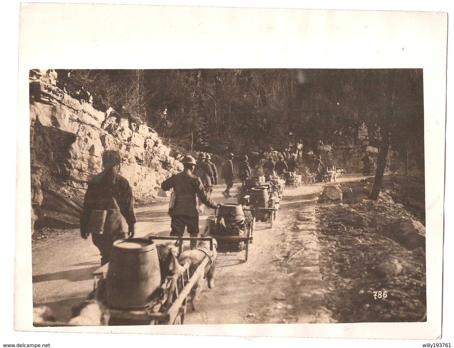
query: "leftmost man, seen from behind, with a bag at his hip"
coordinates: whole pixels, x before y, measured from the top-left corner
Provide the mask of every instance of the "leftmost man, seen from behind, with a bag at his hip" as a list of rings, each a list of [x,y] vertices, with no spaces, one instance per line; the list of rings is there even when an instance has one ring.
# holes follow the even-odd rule
[[[80,235],[87,239],[90,232],[93,244],[101,254],[101,265],[109,262],[114,241],[133,238],[136,218],[133,190],[127,179],[118,174],[121,158],[117,151],[106,150],[102,156],[104,170],[90,179],[80,215]],[[96,214],[109,210],[109,224],[94,228]],[[104,215],[105,216],[105,215]],[[114,219],[115,221],[110,221]],[[110,229],[105,229],[110,226]],[[117,226],[117,227],[113,227]]]

